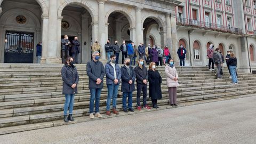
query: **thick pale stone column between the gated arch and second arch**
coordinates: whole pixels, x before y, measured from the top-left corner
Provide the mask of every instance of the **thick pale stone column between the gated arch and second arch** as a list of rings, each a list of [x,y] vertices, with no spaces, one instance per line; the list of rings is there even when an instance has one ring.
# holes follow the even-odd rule
[[[58,27],[60,27],[60,23],[58,22],[58,7],[57,7],[57,1],[49,1],[50,7],[49,7],[49,20],[48,20],[48,33],[47,33],[47,51],[45,59],[43,59],[41,62],[43,63],[61,63],[60,59],[60,51],[58,49],[58,43],[60,43],[60,37],[58,37],[59,30]],[[58,25],[59,24],[59,25]],[[43,26],[44,27],[44,26]],[[59,44],[60,45],[60,44]],[[43,48],[42,48],[43,49]]]

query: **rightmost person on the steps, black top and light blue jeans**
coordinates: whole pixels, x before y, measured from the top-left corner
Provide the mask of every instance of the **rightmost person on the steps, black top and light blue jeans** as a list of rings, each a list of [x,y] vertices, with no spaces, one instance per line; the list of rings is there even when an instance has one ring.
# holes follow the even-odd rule
[[[232,82],[231,84],[237,84],[237,75],[236,75],[236,66],[237,66],[237,59],[235,57],[234,53],[230,53],[230,58],[227,59],[227,63],[229,65],[230,73],[231,73],[231,78]]]

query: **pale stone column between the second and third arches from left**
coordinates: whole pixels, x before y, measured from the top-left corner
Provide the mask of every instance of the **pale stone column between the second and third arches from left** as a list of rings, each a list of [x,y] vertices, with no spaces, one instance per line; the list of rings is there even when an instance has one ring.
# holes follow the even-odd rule
[[[105,43],[107,41],[106,37],[106,26],[105,26],[105,2],[106,0],[98,0],[98,37],[99,37],[99,43],[101,45],[101,59],[106,59],[106,51],[105,51]]]

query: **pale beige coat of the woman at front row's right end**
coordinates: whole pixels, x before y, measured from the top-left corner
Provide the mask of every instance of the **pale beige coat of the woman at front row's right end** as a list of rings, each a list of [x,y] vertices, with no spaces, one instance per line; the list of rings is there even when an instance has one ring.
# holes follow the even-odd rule
[[[166,74],[166,81],[168,87],[178,87],[179,83],[178,81],[174,81],[173,79],[175,77],[178,78],[178,73],[175,67],[170,67],[169,64],[166,64],[165,66],[165,74]]]

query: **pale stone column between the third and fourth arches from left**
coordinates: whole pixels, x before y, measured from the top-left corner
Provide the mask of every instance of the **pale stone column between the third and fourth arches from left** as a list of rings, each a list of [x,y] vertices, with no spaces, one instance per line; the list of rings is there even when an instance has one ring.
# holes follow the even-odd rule
[[[136,7],[136,44],[138,43],[143,43],[140,7]]]

